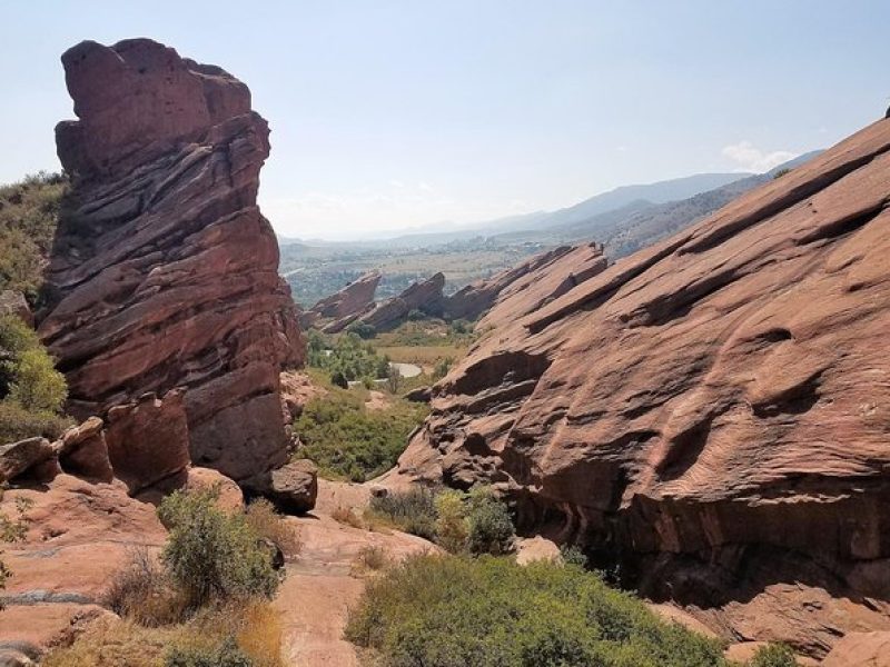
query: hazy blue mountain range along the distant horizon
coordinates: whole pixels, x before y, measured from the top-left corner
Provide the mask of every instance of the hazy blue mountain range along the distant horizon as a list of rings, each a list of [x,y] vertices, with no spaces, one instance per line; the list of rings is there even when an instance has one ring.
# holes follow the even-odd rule
[[[417,247],[483,238],[496,243],[564,243],[596,240],[616,258],[649,246],[722,208],[736,197],[764,183],[782,169],[819,155],[813,151],[767,173],[696,173],[647,185],[623,186],[556,211],[537,211],[478,222],[453,231],[418,230],[386,239],[354,242],[303,241],[279,237],[285,246],[308,247]]]

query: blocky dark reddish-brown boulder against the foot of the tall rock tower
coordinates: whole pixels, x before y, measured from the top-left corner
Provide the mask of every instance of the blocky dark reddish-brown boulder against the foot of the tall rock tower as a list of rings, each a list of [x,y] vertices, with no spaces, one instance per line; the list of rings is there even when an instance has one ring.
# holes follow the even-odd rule
[[[115,406],[108,411],[106,442],[115,476],[131,495],[185,470],[191,461],[182,394],[168,391],[164,399],[145,394]]]

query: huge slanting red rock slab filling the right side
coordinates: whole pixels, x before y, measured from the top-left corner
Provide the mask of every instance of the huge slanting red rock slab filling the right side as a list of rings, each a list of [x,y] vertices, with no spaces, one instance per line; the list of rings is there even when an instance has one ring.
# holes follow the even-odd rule
[[[621,561],[656,599],[721,611],[725,636],[820,657],[879,629],[888,201],[879,121],[547,305],[504,299],[387,480],[493,480],[524,525]],[[752,623],[752,601],[784,623]]]

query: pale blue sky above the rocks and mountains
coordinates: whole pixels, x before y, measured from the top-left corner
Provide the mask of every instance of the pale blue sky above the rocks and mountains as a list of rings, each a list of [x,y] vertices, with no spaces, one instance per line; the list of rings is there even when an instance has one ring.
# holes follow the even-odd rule
[[[10,1],[0,182],[58,169],[59,56],[151,37],[244,80],[279,232],[350,237],[765,169],[890,103],[890,3]]]

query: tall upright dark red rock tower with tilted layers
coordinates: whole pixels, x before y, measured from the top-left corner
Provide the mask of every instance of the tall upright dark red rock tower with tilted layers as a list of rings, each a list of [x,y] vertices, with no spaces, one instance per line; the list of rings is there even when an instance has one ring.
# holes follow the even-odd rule
[[[73,188],[38,320],[70,411],[184,388],[168,411],[185,411],[194,462],[261,486],[287,458],[278,374],[303,358],[256,205],[268,126],[244,83],[151,40],[82,42],[62,63]]]

